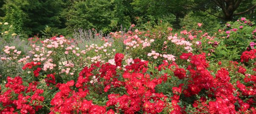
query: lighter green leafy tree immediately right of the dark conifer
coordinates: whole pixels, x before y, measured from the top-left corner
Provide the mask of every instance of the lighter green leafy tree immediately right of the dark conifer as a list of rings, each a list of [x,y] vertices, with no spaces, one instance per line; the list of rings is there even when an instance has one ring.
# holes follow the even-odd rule
[[[68,11],[67,28],[73,32],[77,28],[110,30],[109,24],[113,18],[111,0],[86,0],[75,2]]]

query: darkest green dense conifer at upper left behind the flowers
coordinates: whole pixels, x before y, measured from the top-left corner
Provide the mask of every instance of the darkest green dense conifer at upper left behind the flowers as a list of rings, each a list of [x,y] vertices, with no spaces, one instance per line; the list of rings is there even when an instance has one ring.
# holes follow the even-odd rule
[[[24,22],[26,31],[35,34],[40,33],[46,26],[60,29],[65,27],[65,24],[61,22],[61,19],[64,19],[61,16],[62,0],[27,0],[27,2],[28,4],[22,7],[28,15]]]

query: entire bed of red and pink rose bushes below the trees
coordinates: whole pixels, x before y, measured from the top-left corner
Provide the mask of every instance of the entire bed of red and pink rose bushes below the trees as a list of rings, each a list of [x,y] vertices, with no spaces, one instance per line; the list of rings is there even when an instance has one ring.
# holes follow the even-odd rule
[[[29,38],[29,51],[5,46],[0,114],[256,114],[256,32],[244,20],[214,35],[132,26],[97,44],[54,36]],[[250,48],[220,56],[245,28]]]

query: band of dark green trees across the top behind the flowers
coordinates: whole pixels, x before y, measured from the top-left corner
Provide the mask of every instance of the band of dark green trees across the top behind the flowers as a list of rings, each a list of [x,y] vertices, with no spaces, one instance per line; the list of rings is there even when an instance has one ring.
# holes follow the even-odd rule
[[[46,26],[67,35],[78,28],[108,33],[121,25],[143,28],[160,21],[180,28],[194,18],[216,24],[241,16],[256,19],[256,0],[0,0],[0,7],[0,20],[27,35],[40,34]]]

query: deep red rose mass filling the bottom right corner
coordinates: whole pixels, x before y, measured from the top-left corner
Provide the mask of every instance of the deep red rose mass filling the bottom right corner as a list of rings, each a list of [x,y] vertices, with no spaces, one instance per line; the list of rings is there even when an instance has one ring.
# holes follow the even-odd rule
[[[187,85],[187,89],[182,93],[186,96],[192,96],[199,94],[202,89],[206,90],[208,94],[208,99],[211,101],[207,102],[206,97],[201,97],[199,100],[195,100],[193,107],[197,109],[200,113],[211,113],[211,114],[254,114],[256,113],[253,108],[253,103],[255,100],[253,98],[244,99],[242,96],[252,95],[255,97],[255,84],[246,87],[240,81],[237,81],[237,87],[239,91],[236,91],[236,88],[231,84],[229,77],[229,72],[225,68],[221,68],[214,76],[206,69],[209,67],[206,62],[205,54],[191,55],[191,54],[182,54],[182,59],[189,59],[191,65],[186,69],[190,73],[190,81]],[[235,63],[232,63],[236,65]],[[240,66],[238,72],[245,75],[245,82],[255,83],[256,76],[245,74],[246,69]],[[176,75],[179,73],[175,73]],[[175,94],[178,94],[180,89],[178,87],[173,88],[174,96],[172,103],[178,102],[178,97]],[[240,94],[242,94],[240,96]],[[239,106],[236,106],[235,103],[238,103]],[[179,109],[177,105],[174,105],[173,111],[176,114],[181,114],[182,109]],[[176,109],[176,110],[175,110]],[[237,110],[239,109],[239,110]],[[249,110],[250,109],[250,110]],[[174,112],[173,112],[174,113]]]

